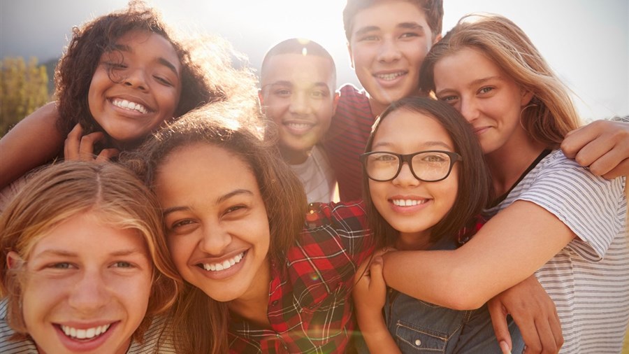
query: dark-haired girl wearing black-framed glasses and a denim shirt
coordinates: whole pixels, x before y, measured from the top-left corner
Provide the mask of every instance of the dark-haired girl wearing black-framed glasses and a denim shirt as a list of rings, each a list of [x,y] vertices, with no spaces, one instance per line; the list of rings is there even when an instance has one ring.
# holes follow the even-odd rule
[[[419,97],[394,102],[376,120],[361,162],[368,220],[379,246],[452,250],[482,225],[477,215],[491,188],[482,149],[448,104]],[[458,311],[386,290],[381,254],[366,274],[356,274],[354,290],[371,353],[500,353],[486,305]],[[512,325],[516,339],[514,331]],[[521,350],[521,341],[516,344]]]

